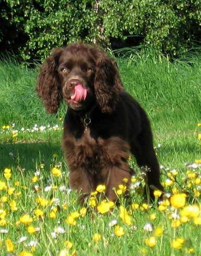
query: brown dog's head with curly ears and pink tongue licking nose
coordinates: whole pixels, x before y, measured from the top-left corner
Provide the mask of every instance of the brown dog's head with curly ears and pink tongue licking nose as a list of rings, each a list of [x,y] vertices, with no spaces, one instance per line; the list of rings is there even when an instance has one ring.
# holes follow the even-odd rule
[[[62,98],[76,111],[98,104],[102,112],[110,113],[123,90],[116,62],[97,47],[81,43],[54,49],[37,84],[49,113],[56,113]]]

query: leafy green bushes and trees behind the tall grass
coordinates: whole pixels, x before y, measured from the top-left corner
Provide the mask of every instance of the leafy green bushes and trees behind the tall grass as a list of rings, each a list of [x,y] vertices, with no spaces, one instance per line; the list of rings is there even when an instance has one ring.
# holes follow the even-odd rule
[[[9,45],[26,39],[17,45],[23,60],[77,40],[110,46],[111,38],[139,35],[143,45],[172,55],[201,40],[200,0],[2,0],[0,7],[0,42],[15,30]]]

